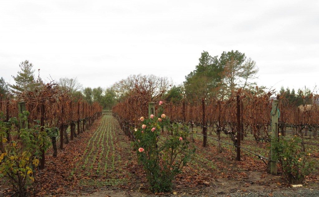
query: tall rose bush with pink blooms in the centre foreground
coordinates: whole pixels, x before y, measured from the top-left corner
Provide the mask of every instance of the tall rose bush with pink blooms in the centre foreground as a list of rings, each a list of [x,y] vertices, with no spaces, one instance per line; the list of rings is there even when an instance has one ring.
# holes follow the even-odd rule
[[[149,119],[141,117],[140,125],[134,132],[136,140],[133,146],[144,166],[153,193],[171,191],[175,175],[181,172],[181,168],[195,152],[195,148],[191,147],[187,140],[187,126],[170,124],[169,118],[162,111],[160,107],[159,116],[156,118],[155,115]],[[172,135],[162,135],[161,128],[167,128]]]

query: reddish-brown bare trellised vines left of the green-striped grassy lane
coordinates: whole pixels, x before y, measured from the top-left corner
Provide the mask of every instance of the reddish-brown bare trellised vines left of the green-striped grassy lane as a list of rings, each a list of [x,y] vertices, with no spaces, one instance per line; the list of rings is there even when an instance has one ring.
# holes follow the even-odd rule
[[[18,117],[18,106],[22,106],[30,112],[27,125],[33,124],[33,120],[40,120],[40,126],[51,128],[57,135],[50,136],[53,146],[53,157],[57,157],[56,141],[59,141],[59,149],[63,144],[68,144],[67,129],[70,126],[70,140],[87,130],[93,122],[101,116],[102,108],[99,103],[89,104],[83,100],[75,101],[67,92],[62,91],[57,84],[51,82],[46,86],[34,90],[25,91],[18,95],[7,95],[6,99],[0,97],[0,111],[4,113],[4,121],[11,117]],[[77,128],[76,128],[77,126]],[[18,128],[19,129],[19,128]],[[10,136],[7,140],[15,136]],[[40,168],[45,165],[44,151],[40,160]]]

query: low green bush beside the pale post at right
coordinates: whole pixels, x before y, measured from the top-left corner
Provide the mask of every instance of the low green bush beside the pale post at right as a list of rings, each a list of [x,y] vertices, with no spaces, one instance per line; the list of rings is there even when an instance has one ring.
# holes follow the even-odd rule
[[[314,161],[311,154],[301,151],[302,140],[300,137],[272,138],[271,148],[275,153],[275,159],[290,183],[301,183],[307,175],[314,170]]]

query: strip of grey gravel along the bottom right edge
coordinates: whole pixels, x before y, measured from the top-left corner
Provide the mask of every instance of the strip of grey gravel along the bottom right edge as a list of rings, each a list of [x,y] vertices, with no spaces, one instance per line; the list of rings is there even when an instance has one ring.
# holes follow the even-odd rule
[[[314,197],[319,196],[319,189],[311,188],[289,188],[278,191],[264,190],[264,191],[247,191],[247,192],[237,192],[237,193],[228,193],[222,194],[222,196],[238,197],[238,196],[303,196],[303,197]]]

